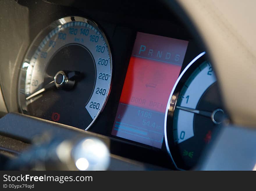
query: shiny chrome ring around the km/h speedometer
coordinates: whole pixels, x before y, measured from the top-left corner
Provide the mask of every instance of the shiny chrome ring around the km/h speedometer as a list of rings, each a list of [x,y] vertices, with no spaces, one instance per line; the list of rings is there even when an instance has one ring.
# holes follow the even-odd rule
[[[109,42],[108,39],[106,38],[106,35],[104,34],[104,32],[102,31],[102,29],[92,20],[84,18],[84,17],[79,17],[79,16],[69,16],[69,17],[63,17],[61,19],[58,19],[54,22],[52,22],[49,26],[47,26],[46,28],[44,28],[36,37],[35,39],[32,41],[25,57],[24,60],[21,64],[21,71],[19,74],[19,83],[18,83],[18,104],[19,104],[19,111],[21,113],[27,114],[26,113],[26,94],[25,94],[25,80],[26,80],[26,74],[27,74],[27,70],[23,69],[22,67],[24,66],[24,63],[30,63],[33,55],[35,54],[35,52],[37,51],[38,47],[40,46],[40,44],[42,43],[42,41],[45,39],[45,37],[53,30],[56,30],[56,28],[61,28],[61,26],[68,24],[70,22],[83,22],[83,23],[87,23],[89,25],[91,25],[93,28],[98,29],[97,32],[99,32],[100,35],[102,35],[107,49],[108,49],[108,55],[109,55],[109,67],[110,67],[110,79],[109,79],[109,83],[108,83],[108,89],[106,92],[106,97],[104,98],[103,104],[102,106],[99,108],[99,111],[97,113],[97,115],[95,115],[95,117],[93,118],[92,122],[90,123],[90,125],[88,127],[86,127],[84,130],[88,130],[92,124],[95,122],[95,120],[97,119],[97,117],[99,116],[99,114],[103,111],[104,107],[106,106],[107,100],[109,98],[109,94],[111,92],[111,86],[112,86],[112,56],[111,56],[111,48],[109,46]],[[95,60],[96,62],[96,60]],[[95,63],[96,65],[96,63]],[[97,71],[96,71],[97,74]],[[96,75],[97,78],[97,75]],[[96,84],[95,84],[96,86]],[[93,92],[95,91],[95,86],[93,89]],[[93,93],[92,93],[93,94]],[[92,95],[91,95],[92,97]],[[90,99],[88,100],[90,101]]]

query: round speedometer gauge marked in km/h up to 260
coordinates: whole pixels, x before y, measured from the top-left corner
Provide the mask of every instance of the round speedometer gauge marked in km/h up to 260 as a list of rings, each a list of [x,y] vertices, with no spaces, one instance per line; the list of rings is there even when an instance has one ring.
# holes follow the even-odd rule
[[[32,42],[19,78],[25,114],[87,130],[111,87],[109,43],[94,22],[58,19]]]

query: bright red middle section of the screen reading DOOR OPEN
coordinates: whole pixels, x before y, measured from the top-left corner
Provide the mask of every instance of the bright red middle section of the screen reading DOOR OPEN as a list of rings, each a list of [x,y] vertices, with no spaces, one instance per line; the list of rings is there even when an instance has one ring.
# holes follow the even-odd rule
[[[164,113],[180,69],[179,65],[132,56],[120,102]]]

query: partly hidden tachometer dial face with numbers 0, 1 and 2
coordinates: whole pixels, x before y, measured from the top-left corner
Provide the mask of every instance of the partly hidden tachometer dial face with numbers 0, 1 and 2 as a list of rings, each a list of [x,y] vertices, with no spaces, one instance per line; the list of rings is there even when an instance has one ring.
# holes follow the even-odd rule
[[[212,133],[224,120],[216,76],[203,58],[179,77],[168,105],[166,145],[180,169],[196,165]]]

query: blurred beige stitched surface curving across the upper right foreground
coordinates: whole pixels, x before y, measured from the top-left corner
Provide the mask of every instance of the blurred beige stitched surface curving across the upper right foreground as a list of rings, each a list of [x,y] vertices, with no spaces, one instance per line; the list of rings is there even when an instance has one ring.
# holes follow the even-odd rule
[[[205,41],[232,122],[256,126],[256,1],[178,2]]]

